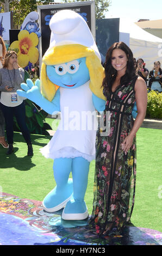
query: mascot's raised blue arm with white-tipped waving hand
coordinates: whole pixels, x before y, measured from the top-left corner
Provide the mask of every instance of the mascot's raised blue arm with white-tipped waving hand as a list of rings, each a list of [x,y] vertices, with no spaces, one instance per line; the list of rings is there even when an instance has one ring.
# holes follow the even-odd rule
[[[27,79],[26,83],[21,83],[21,88],[23,90],[17,90],[17,94],[22,97],[27,97],[27,99],[35,102],[42,109],[44,109],[48,114],[57,114],[60,111],[60,90],[58,89],[52,102],[45,99],[40,92],[40,80],[35,81],[35,85],[32,80]]]

